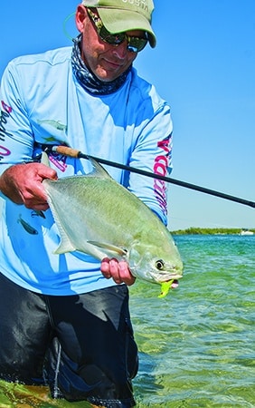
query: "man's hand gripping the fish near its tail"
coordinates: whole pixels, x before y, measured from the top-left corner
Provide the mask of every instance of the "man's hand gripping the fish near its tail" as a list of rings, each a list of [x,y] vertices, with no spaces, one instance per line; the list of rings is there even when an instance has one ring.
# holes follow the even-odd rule
[[[57,180],[56,171],[42,163],[15,164],[2,174],[0,190],[16,204],[44,211],[49,208],[44,179]]]

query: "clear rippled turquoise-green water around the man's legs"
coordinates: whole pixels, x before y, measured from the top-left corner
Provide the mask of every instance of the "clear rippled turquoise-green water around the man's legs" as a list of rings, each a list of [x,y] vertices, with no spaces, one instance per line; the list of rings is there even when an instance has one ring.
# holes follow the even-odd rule
[[[164,299],[138,281],[130,309],[140,355],[137,408],[255,407],[255,236],[175,237],[184,278]],[[0,408],[86,408],[0,383]]]

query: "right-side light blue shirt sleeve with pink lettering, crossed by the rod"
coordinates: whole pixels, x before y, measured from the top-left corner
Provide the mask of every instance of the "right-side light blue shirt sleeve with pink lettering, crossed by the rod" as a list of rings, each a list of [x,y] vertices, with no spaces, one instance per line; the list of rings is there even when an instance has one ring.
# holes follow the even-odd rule
[[[157,175],[169,175],[172,170],[172,132],[170,107],[162,102],[140,131],[129,165]],[[128,189],[167,225],[167,183],[164,180],[130,172]]]

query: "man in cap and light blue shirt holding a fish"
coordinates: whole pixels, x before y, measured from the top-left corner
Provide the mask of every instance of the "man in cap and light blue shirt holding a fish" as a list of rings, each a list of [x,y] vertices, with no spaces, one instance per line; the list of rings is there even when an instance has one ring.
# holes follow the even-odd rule
[[[156,45],[153,8],[152,0],[84,0],[73,47],[16,58],[1,83],[0,377],[49,384],[52,397],[93,406],[135,405],[127,290],[135,278],[125,261],[52,253],[59,233],[42,180],[89,168],[56,153],[51,167],[36,158],[65,144],[167,173],[169,106],[132,67]],[[108,170],[166,224],[164,183]]]

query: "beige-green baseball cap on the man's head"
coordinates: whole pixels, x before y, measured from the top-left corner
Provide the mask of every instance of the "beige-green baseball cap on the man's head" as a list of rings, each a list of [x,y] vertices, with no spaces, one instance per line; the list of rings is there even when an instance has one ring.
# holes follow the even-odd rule
[[[82,0],[85,7],[96,7],[109,33],[143,30],[151,47],[156,46],[156,35],[151,26],[153,0]]]

